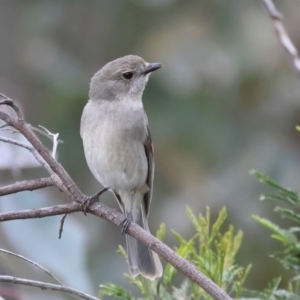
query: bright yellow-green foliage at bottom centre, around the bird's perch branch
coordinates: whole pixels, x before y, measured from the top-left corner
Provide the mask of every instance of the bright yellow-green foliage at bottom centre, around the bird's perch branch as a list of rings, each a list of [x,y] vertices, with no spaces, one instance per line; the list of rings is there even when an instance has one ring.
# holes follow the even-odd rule
[[[223,208],[214,223],[211,222],[210,210],[207,208],[205,215],[194,215],[187,207],[187,214],[194,226],[194,236],[186,240],[179,233],[172,233],[177,239],[178,246],[175,251],[180,256],[193,262],[193,264],[205,275],[216,282],[227,293],[233,294],[239,299],[243,291],[245,279],[251,266],[243,268],[235,263],[235,256],[240,248],[243,234],[241,231],[234,232],[233,226],[229,226],[225,233],[221,233],[224,221],[227,218],[226,209]],[[157,232],[157,237],[163,240],[166,233],[165,225],[162,224]],[[118,253],[126,259],[126,251],[119,247]],[[113,299],[164,299],[164,300],[196,300],[212,299],[197,284],[189,279],[178,278],[177,270],[170,264],[164,269],[163,277],[153,282],[142,276],[132,277],[125,274],[131,284],[136,286],[142,298],[134,298],[124,288],[106,283],[100,285],[100,297],[111,296]],[[177,276],[178,275],[178,276]],[[175,286],[178,280],[182,282]]]

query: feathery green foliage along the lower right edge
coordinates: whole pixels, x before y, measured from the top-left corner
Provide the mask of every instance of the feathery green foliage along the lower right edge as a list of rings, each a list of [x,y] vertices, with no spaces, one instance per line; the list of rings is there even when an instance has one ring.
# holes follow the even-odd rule
[[[294,272],[293,278],[290,280],[286,290],[279,289],[280,278],[273,279],[267,289],[262,292],[247,291],[247,295],[256,296],[258,299],[299,299],[300,294],[300,241],[298,240],[298,232],[300,231],[300,214],[296,210],[300,208],[300,195],[288,188],[280,186],[269,177],[260,174],[257,171],[251,171],[262,183],[267,184],[275,190],[274,194],[263,194],[260,199],[273,202],[279,202],[286,207],[277,206],[275,212],[279,213],[282,218],[290,219],[295,223],[288,229],[283,229],[277,224],[259,216],[253,218],[268,228],[271,237],[279,241],[283,249],[271,255],[278,260],[285,269]]]

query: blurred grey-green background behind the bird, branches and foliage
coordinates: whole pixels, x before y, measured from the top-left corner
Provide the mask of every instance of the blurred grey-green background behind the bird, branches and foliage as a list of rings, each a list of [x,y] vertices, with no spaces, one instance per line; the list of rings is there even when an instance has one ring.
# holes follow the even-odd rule
[[[277,1],[300,48],[300,2]],[[136,54],[164,67],[144,93],[155,146],[156,173],[150,228],[167,226],[185,238],[193,227],[185,210],[226,206],[228,224],[244,232],[240,265],[252,263],[246,286],[262,289],[289,274],[269,258],[278,246],[257,224],[276,222],[274,206],[259,201],[267,188],[249,170],[299,187],[300,81],[278,43],[263,1],[216,0],[0,0],[0,91],[18,101],[28,123],[59,133],[58,160],[87,195],[100,189],[79,135],[89,81],[105,63]],[[2,131],[2,135],[10,133]],[[14,138],[21,139],[17,134]],[[51,148],[49,139],[41,136]],[[47,176],[24,149],[0,143],[0,184]],[[2,197],[1,211],[68,202],[56,188]],[[103,203],[116,207],[106,193]],[[5,222],[0,247],[51,270],[66,284],[95,294],[99,284],[127,285],[120,229],[82,213]],[[0,274],[49,280],[27,263],[0,253]],[[50,280],[51,281],[51,280]],[[284,282],[283,282],[284,283]],[[35,288],[1,286],[5,299],[73,299]],[[6,291],[6,294],[4,292]],[[1,294],[1,293],[0,293]],[[10,298],[8,297],[10,295]]]

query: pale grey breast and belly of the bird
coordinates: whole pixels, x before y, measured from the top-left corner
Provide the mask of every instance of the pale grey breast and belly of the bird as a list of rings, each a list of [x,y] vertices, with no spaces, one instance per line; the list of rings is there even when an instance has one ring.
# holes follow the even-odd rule
[[[142,113],[105,110],[82,130],[86,160],[103,186],[120,190],[145,184],[148,162]]]

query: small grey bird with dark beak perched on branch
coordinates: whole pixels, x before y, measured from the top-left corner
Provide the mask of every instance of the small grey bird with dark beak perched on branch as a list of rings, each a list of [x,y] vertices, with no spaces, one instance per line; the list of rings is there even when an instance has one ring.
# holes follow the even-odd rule
[[[103,191],[115,195],[125,215],[123,233],[131,221],[149,231],[154,159],[142,94],[151,72],[161,67],[134,55],[109,62],[91,79],[81,117],[87,164]],[[95,201],[103,191],[88,200]],[[161,277],[156,253],[129,235],[126,244],[131,275]]]

